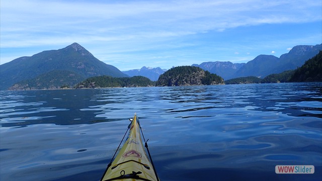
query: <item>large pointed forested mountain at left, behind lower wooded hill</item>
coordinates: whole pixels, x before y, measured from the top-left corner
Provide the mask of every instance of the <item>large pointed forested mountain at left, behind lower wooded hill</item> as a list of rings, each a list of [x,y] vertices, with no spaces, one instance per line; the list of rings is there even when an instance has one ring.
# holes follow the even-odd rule
[[[19,81],[33,79],[54,70],[70,71],[83,79],[99,75],[127,77],[116,67],[100,61],[84,47],[73,43],[59,50],[43,51],[0,65],[0,89],[8,89]],[[67,77],[70,72],[64,76]]]

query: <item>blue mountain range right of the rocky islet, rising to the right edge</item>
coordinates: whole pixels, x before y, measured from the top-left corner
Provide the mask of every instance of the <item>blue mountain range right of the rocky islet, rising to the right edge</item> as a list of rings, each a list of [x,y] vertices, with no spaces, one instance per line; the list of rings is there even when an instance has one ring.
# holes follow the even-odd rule
[[[231,62],[203,62],[200,65],[192,64],[192,66],[200,67],[211,73],[223,77],[225,80],[256,76],[264,78],[272,73],[281,73],[285,70],[292,70],[300,67],[304,62],[322,50],[322,44],[319,45],[297,45],[288,53],[280,56],[258,55],[247,63],[231,63]]]

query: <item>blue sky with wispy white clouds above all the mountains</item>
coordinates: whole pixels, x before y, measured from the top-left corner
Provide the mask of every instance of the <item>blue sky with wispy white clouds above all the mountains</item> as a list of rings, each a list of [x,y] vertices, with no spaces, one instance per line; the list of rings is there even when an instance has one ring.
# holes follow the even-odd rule
[[[321,44],[322,1],[0,1],[0,64],[74,42],[122,71],[246,63]]]

